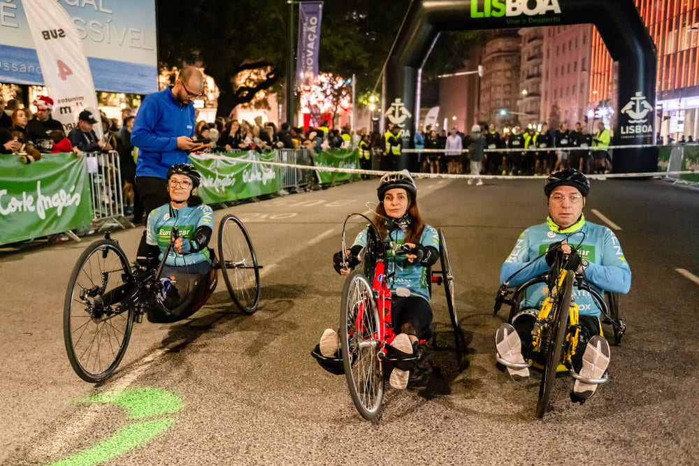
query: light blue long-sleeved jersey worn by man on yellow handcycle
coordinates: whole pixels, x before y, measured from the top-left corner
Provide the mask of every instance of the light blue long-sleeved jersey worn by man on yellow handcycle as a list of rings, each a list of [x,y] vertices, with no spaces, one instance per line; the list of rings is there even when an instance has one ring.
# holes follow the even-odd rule
[[[581,259],[587,259],[589,265],[585,275],[591,288],[599,293],[614,291],[627,293],[631,286],[631,270],[628,268],[624,252],[621,251],[617,236],[606,226],[592,224],[582,216],[575,225],[559,230],[553,221],[527,228],[519,238],[514,249],[500,268],[500,283],[505,282],[514,272],[521,270],[510,279],[510,286],[519,286],[528,279],[544,275],[549,270],[545,257],[549,245],[566,240],[578,250]],[[526,265],[535,261],[532,265]],[[526,291],[524,306],[539,308],[547,297],[545,284],[537,284]],[[588,291],[573,289],[573,298],[579,306],[579,314],[600,316],[600,309]]]

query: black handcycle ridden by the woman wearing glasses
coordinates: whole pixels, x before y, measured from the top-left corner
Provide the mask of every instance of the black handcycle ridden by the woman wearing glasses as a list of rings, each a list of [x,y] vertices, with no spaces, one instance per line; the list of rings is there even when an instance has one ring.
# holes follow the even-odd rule
[[[119,242],[105,233],[82,252],[68,282],[63,335],[71,366],[78,376],[96,383],[109,377],[127,350],[134,322],[169,323],[202,307],[223,273],[226,289],[245,314],[257,310],[261,265],[243,222],[227,214],[218,228],[218,256],[205,273],[164,277],[171,241],[157,268],[129,263]]]

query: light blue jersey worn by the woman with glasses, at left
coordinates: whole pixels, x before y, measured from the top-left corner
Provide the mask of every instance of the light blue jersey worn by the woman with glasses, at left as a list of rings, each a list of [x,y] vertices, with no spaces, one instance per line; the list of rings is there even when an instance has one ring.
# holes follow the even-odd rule
[[[170,205],[164,204],[150,212],[148,216],[148,226],[146,228],[145,242],[152,246],[160,248],[159,260],[163,259],[163,253],[170,242],[170,233],[173,226],[176,226],[182,237],[182,252],[185,254],[177,254],[175,249],[170,249],[167,265],[180,266],[192,265],[199,262],[211,263],[209,257],[209,249],[203,248],[199,252],[187,254],[192,246],[194,232],[199,226],[208,226],[214,228],[214,212],[206,204],[197,205],[196,207],[180,207],[173,209],[174,215],[170,215]]]

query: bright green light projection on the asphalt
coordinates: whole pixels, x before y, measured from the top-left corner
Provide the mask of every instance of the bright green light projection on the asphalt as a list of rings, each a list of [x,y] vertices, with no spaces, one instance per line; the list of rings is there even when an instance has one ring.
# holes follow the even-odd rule
[[[131,388],[114,393],[102,393],[76,400],[87,403],[110,403],[126,410],[131,419],[143,419],[163,414],[174,414],[184,403],[182,400],[159,388]],[[116,458],[127,451],[145,444],[165,432],[175,423],[175,418],[166,417],[152,421],[136,422],[118,430],[108,439],[50,466],[92,466]]]

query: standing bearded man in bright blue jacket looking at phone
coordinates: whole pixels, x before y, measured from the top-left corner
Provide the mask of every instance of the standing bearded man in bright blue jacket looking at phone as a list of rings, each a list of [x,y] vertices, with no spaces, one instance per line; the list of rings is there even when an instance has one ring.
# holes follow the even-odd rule
[[[136,184],[148,214],[169,202],[166,174],[178,163],[189,163],[187,153],[197,147],[194,135],[194,105],[203,92],[201,72],[194,66],[182,68],[174,86],[150,94],[138,109],[131,144],[138,147]]]

